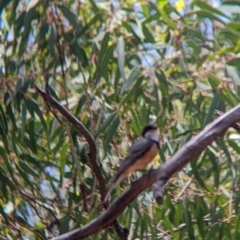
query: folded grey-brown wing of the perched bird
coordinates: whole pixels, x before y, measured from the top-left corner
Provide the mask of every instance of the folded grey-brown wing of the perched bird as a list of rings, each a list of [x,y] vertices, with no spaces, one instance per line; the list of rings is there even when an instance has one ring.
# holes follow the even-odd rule
[[[129,149],[128,155],[122,161],[115,177],[112,179],[112,182],[116,182],[118,178],[124,173],[134,162],[142,157],[152,146],[153,141],[147,138],[137,139],[132,147]]]

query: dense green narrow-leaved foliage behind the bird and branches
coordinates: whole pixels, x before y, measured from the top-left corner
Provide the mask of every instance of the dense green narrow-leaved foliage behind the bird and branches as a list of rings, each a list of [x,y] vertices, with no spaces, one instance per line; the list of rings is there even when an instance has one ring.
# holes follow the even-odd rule
[[[237,4],[2,0],[1,235],[45,239],[102,212],[85,139],[35,85],[49,79],[51,94],[90,130],[106,184],[150,121],[161,130],[166,161],[215,109],[239,102]],[[229,129],[174,176],[162,205],[149,190],[119,222],[131,239],[239,239],[239,153],[239,135]],[[116,239],[110,230],[99,236]]]

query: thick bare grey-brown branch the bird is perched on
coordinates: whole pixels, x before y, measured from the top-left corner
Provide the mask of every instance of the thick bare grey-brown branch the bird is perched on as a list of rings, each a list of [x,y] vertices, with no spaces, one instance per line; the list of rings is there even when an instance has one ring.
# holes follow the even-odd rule
[[[192,159],[199,156],[209,144],[211,144],[219,136],[222,136],[230,126],[239,120],[240,105],[205,127],[202,132],[189,141],[161,167],[151,170],[148,174],[134,182],[131,187],[119,198],[117,198],[101,216],[94,219],[84,227],[56,237],[54,240],[83,239],[108,227],[118,217],[118,215],[123,212],[129,203],[137,197],[137,195],[146,190],[156,181],[161,183],[160,188],[162,188],[163,184],[165,184],[173,174],[180,171]]]

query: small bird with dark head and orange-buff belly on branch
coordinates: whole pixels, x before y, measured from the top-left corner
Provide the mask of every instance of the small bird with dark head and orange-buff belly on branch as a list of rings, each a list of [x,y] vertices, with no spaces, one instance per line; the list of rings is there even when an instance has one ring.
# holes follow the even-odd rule
[[[153,123],[147,124],[143,128],[141,137],[133,143],[127,156],[120,164],[103,202],[107,202],[114,187],[127,177],[129,173],[144,169],[156,157],[159,149],[158,127]]]

